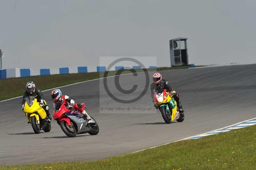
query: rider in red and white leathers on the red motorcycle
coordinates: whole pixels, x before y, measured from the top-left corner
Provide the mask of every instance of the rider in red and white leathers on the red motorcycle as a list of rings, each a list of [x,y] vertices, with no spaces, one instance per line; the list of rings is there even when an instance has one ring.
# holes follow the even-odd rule
[[[58,102],[60,103],[64,102],[66,107],[68,106],[73,107],[75,104],[75,101],[73,99],[71,99],[67,95],[62,95],[60,89],[52,90],[52,99],[54,100],[53,107],[55,107],[55,104]],[[79,105],[81,106],[81,104],[78,104],[78,107]],[[91,117],[88,115],[88,113],[85,110],[81,112],[81,114],[83,115],[83,117],[85,117],[86,120],[91,120]]]

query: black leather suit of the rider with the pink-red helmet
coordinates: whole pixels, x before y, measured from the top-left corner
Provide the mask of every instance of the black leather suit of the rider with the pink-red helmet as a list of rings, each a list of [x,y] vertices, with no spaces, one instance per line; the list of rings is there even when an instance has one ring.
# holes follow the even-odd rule
[[[162,81],[158,84],[152,83],[150,85],[150,89],[151,89],[151,97],[154,98],[154,93],[156,92],[156,90],[158,89],[166,89],[167,92],[173,91],[171,85],[169,84],[168,81],[162,79]],[[183,112],[182,109],[182,104],[180,103],[180,96],[178,93],[173,93],[174,100],[177,102],[178,108],[180,109],[180,111]]]

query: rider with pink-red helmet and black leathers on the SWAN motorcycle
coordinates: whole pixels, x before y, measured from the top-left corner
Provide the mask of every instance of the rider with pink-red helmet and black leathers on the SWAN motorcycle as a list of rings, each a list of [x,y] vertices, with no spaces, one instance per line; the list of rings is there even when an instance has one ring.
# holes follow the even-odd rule
[[[150,89],[151,89],[151,97],[152,98],[154,98],[154,93],[156,92],[156,90],[166,89],[166,91],[169,92],[169,95],[171,95],[174,98],[174,100],[177,102],[179,112],[184,112],[184,110],[182,108],[182,105],[180,103],[179,94],[178,93],[173,93],[173,89],[172,89],[171,85],[169,84],[168,81],[162,79],[162,74],[161,73],[155,73],[153,75],[153,83],[150,85]],[[157,109],[156,104],[154,106]]]

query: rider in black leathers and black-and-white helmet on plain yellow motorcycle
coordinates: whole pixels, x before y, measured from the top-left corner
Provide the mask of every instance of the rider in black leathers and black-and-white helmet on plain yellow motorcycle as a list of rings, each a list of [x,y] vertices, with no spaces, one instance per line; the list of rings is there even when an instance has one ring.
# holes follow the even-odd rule
[[[26,91],[23,94],[23,100],[21,102],[21,107],[22,107],[22,111],[24,111],[24,104],[26,102],[26,98],[28,96],[33,96],[37,99],[38,102],[40,102],[40,107],[42,107],[44,109],[44,111],[46,112],[47,117],[52,120],[52,116],[50,114],[49,111],[49,106],[46,105],[46,102],[44,100],[44,96],[42,91],[40,91],[39,89],[36,88],[36,85],[33,81],[29,81],[26,85]]]

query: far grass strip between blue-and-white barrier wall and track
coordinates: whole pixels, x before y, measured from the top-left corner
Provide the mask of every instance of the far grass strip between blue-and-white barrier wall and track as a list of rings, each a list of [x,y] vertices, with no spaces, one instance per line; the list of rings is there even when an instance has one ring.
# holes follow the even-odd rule
[[[155,69],[147,69],[147,71],[162,71],[171,69],[184,69],[189,67],[199,66],[177,66],[177,67],[161,67]],[[142,72],[143,69],[138,69],[136,72]],[[117,73],[116,71],[108,72],[108,76],[131,73],[131,71],[124,71]],[[41,90],[52,89],[54,87],[60,87],[76,82],[93,80],[103,77],[104,72],[93,73],[76,73],[76,74],[54,74],[44,76],[30,76],[30,77],[18,77],[9,79],[0,79],[0,101],[22,96],[26,90],[26,84],[28,81],[34,81],[36,87]]]

